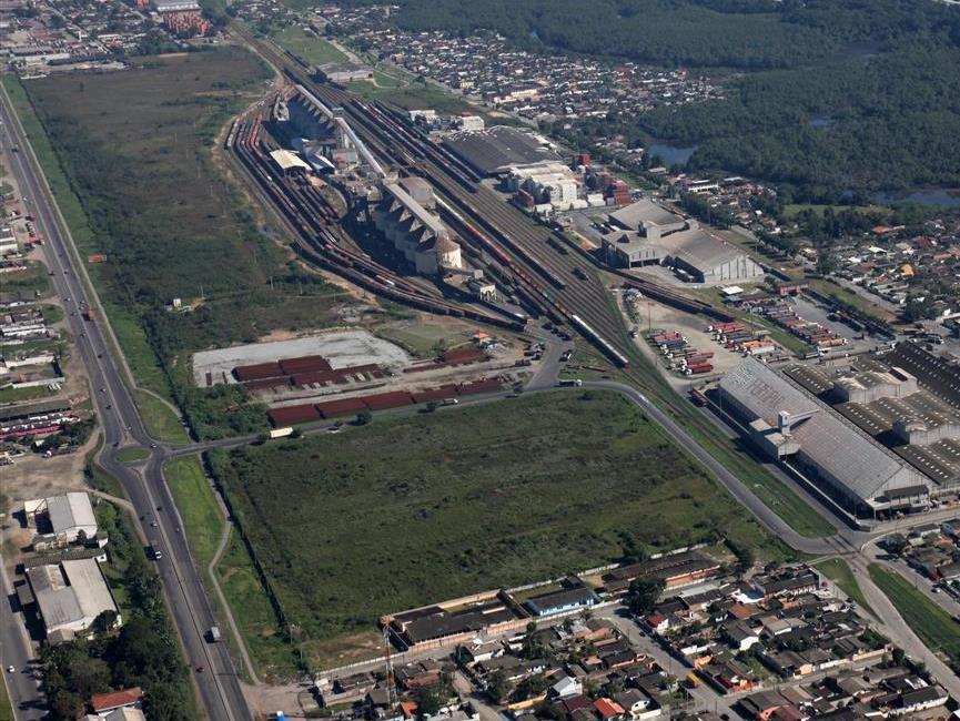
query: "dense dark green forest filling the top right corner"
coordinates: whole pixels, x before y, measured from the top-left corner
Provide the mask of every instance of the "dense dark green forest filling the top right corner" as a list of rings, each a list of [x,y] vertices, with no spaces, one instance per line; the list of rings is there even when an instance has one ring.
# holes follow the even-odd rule
[[[396,22],[734,73],[725,100],[594,119],[584,140],[697,145],[693,167],[798,199],[960,185],[960,8],[933,0],[406,0]]]

